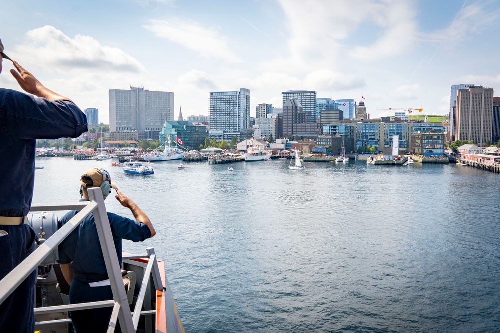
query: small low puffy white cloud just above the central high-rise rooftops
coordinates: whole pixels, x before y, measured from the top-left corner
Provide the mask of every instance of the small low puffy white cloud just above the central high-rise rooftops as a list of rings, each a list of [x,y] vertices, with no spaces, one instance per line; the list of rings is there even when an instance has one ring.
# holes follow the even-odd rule
[[[316,70],[308,74],[303,86],[314,90],[350,90],[361,88],[365,85],[362,77],[356,77],[350,74],[334,72],[328,69]]]

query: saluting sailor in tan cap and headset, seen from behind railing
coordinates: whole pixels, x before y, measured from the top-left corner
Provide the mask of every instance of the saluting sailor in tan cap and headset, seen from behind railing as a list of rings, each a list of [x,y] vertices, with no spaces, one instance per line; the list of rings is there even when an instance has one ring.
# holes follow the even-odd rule
[[[80,185],[82,201],[89,200],[88,188],[100,187],[104,200],[111,193],[111,188],[114,188],[115,198],[123,207],[130,209],[135,217],[134,221],[114,213],[107,213],[120,265],[122,239],[139,242],[156,234],[151,220],[130,198],[116,188],[106,170],[96,168],[87,170],[81,176]],[[66,213],[59,220],[58,227],[61,228],[78,212],[73,210]],[[58,262],[64,278],[71,285],[70,304],[113,299],[93,214],[87,216],[59,245]],[[112,308],[109,307],[72,311],[71,321],[77,333],[106,332],[111,312]]]

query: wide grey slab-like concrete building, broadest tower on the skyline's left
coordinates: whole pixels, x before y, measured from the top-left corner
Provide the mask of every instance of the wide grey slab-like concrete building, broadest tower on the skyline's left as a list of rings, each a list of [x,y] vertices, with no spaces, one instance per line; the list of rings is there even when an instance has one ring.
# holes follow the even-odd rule
[[[149,91],[144,87],[109,90],[109,130],[160,131],[173,120],[173,92]]]

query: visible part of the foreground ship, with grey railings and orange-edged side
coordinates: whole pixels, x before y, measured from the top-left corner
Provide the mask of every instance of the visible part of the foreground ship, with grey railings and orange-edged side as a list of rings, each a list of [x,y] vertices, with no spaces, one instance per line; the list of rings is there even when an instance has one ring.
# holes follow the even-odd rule
[[[36,230],[40,245],[0,281],[0,304],[38,269],[36,290],[39,292],[34,302],[37,331],[70,333],[69,311],[112,307],[107,332],[114,332],[119,320],[121,332],[185,333],[166,278],[165,263],[157,258],[154,248],[148,247],[143,254],[123,253],[120,267],[102,191],[100,188],[89,188],[88,193],[90,201],[31,206],[28,223]],[[58,230],[58,217],[46,213],[71,209],[80,212]],[[56,263],[57,247],[92,212],[113,299],[69,304],[69,285]]]

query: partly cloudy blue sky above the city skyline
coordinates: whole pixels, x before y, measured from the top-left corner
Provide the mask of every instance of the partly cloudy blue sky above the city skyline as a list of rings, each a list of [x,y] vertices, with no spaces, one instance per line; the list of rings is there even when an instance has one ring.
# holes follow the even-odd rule
[[[4,1],[5,53],[46,87],[109,122],[109,89],[175,94],[175,120],[209,115],[210,91],[364,97],[447,114],[452,84],[500,90],[498,0]],[[0,87],[20,90],[3,61]],[[495,91],[500,96],[500,91]]]

